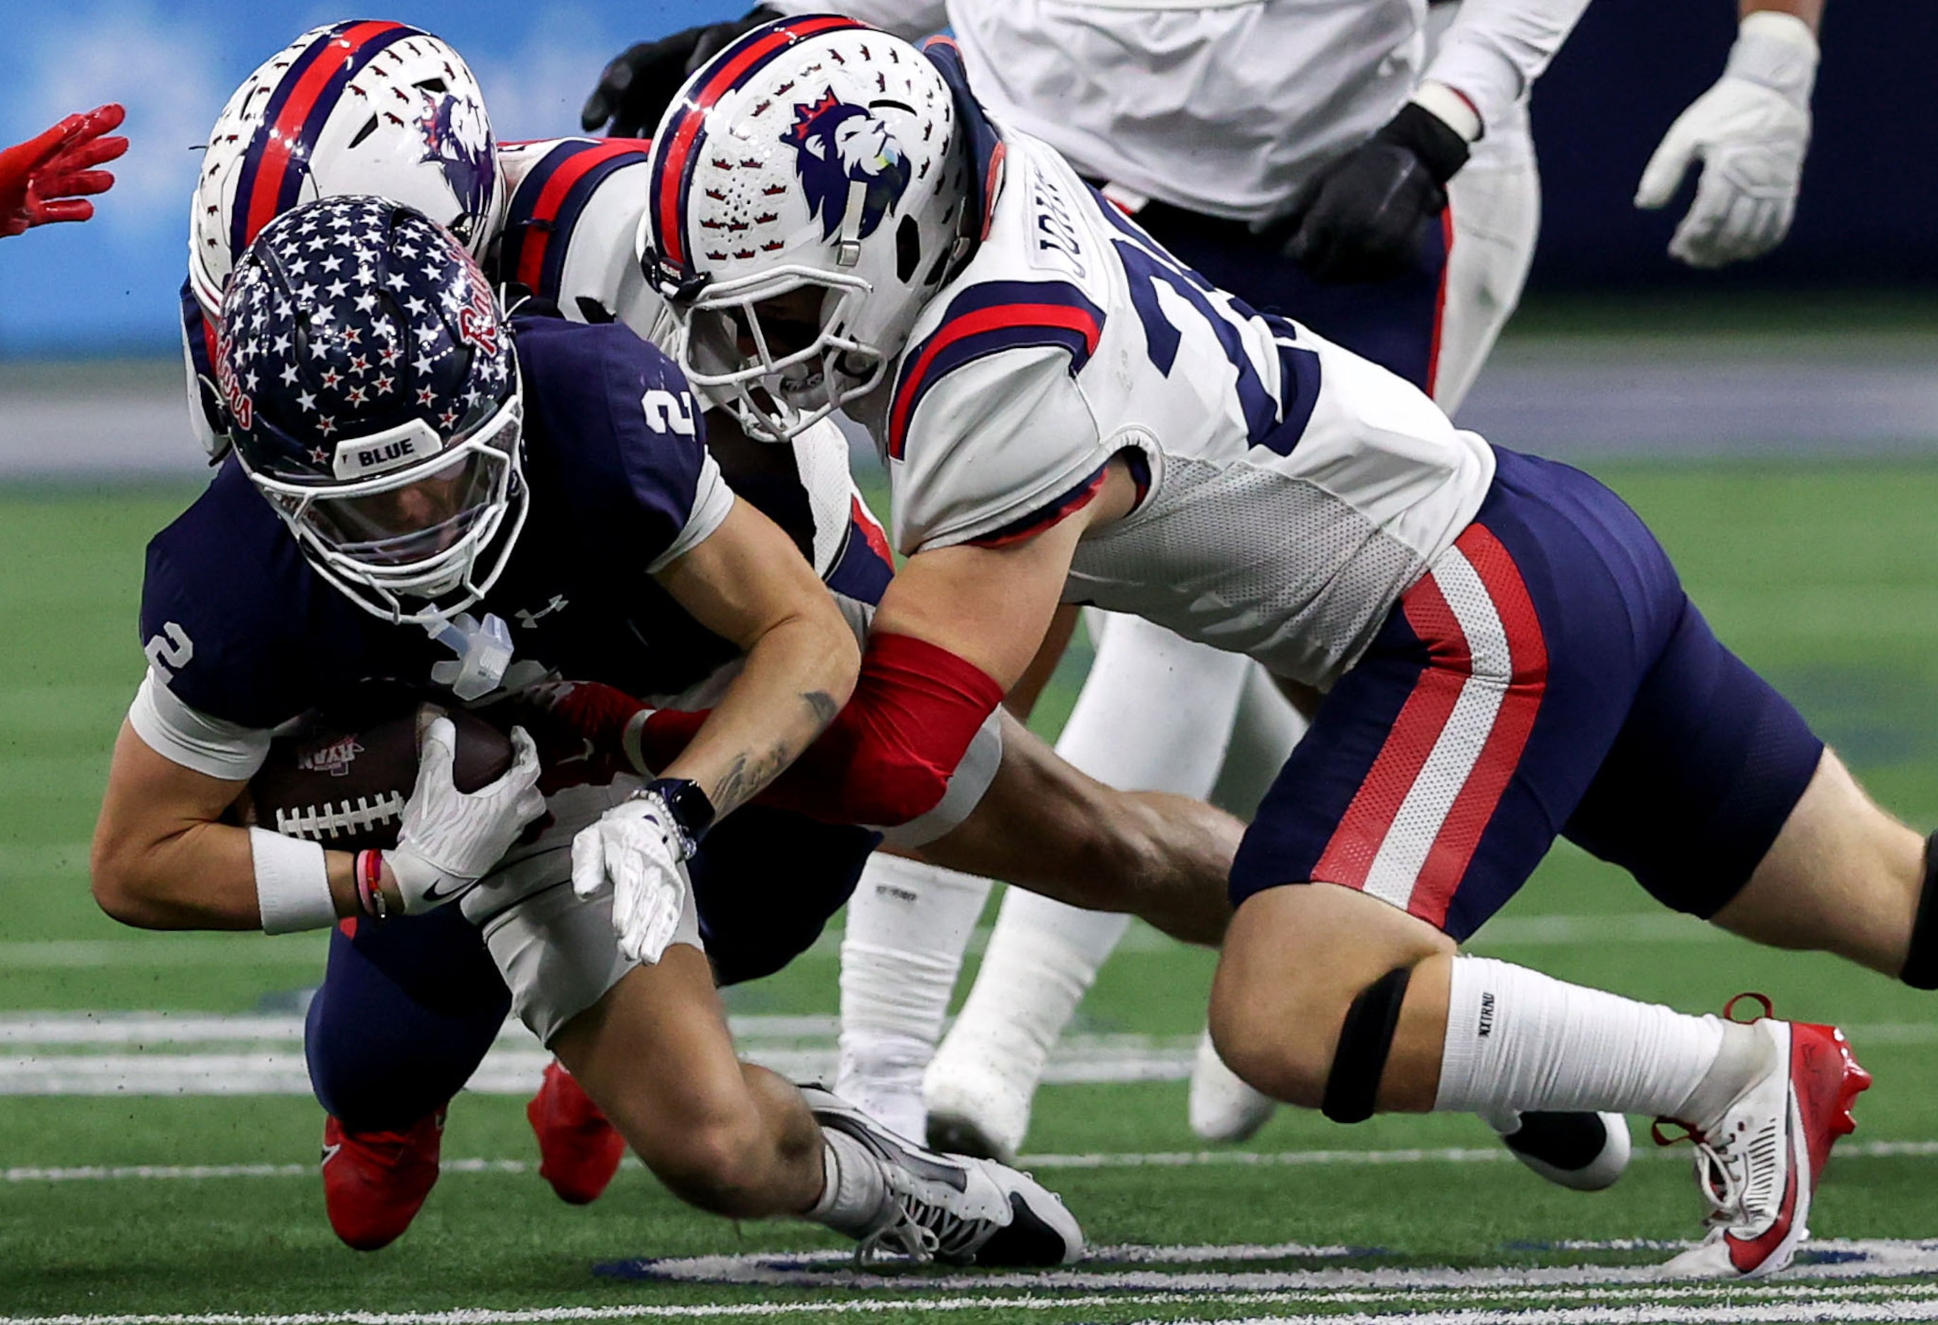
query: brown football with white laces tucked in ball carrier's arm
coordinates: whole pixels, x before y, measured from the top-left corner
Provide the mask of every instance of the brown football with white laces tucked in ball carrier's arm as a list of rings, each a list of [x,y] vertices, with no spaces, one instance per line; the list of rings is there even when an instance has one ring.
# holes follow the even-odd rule
[[[440,715],[457,730],[457,790],[479,790],[512,767],[512,742],[463,709],[405,703],[374,717],[310,717],[269,744],[250,779],[254,823],[333,850],[395,847],[417,785],[419,738]]]

